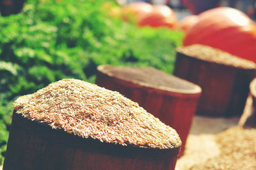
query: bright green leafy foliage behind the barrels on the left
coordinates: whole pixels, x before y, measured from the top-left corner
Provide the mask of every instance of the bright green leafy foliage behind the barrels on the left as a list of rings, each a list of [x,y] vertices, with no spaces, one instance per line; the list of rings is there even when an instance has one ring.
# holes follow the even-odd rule
[[[113,19],[106,10],[115,4],[104,3],[31,0],[22,13],[0,17],[0,164],[12,102],[20,95],[64,78],[94,82],[102,64],[153,66],[172,73],[181,33]]]

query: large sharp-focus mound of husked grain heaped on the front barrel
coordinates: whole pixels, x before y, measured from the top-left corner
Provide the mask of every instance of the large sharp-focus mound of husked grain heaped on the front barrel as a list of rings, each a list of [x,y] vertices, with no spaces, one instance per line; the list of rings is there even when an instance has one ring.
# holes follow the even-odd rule
[[[116,91],[76,79],[49,84],[13,103],[25,118],[106,143],[175,148],[177,132]]]

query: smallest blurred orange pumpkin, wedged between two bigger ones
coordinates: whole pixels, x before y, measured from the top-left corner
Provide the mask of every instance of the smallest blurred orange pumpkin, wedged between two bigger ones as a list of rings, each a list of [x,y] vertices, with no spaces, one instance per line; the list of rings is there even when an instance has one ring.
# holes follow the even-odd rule
[[[189,15],[179,22],[179,29],[183,30],[185,33],[188,32],[188,29],[198,22],[197,15]]]

